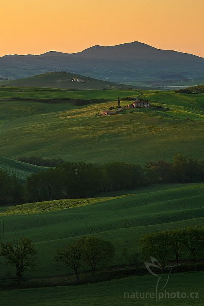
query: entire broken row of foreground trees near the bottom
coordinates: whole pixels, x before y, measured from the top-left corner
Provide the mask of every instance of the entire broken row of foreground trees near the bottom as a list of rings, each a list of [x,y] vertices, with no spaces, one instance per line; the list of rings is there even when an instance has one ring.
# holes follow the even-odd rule
[[[139,240],[141,256],[144,260],[155,260],[152,267],[165,272],[169,261],[192,260],[195,270],[198,261],[203,258],[204,252],[204,228],[187,227],[171,231],[162,231],[143,235]],[[37,267],[37,250],[35,245],[26,237],[18,241],[0,243],[0,256],[4,258],[4,264],[15,268],[16,285],[20,287],[25,272],[34,272]],[[71,268],[77,283],[80,282],[80,271],[90,270],[92,279],[96,269],[109,267],[114,260],[115,247],[109,240],[98,237],[84,236],[55,250],[53,259],[60,265]],[[128,256],[128,250],[122,249],[124,264]],[[139,254],[131,253],[131,262],[139,267]],[[169,266],[171,267],[171,266]],[[158,272],[158,271],[157,271]]]

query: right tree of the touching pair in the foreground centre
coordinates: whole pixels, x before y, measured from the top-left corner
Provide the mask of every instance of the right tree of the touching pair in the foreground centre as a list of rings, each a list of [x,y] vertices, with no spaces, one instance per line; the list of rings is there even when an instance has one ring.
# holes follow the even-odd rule
[[[94,276],[96,266],[108,265],[114,254],[115,248],[111,241],[98,237],[85,237],[83,261],[91,266],[92,276]]]

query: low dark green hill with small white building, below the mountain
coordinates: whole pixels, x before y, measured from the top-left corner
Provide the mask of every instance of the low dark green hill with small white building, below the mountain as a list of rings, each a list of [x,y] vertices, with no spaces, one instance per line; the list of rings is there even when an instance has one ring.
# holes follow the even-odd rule
[[[83,82],[74,82],[72,79],[80,79]],[[94,78],[84,77],[83,75],[73,73],[50,72],[46,74],[35,75],[30,78],[23,78],[10,81],[1,81],[0,86],[18,86],[18,87],[48,87],[63,89],[102,89],[102,88],[127,88],[127,85],[121,85],[108,81],[101,81]]]

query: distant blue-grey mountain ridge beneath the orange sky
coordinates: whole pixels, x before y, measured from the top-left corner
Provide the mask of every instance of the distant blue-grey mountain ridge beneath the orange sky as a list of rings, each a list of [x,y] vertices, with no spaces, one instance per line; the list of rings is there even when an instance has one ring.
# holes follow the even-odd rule
[[[72,54],[50,51],[0,58],[0,77],[18,79],[48,71],[68,71],[112,82],[155,80],[158,75],[199,78],[204,75],[204,58],[141,42],[98,45]]]

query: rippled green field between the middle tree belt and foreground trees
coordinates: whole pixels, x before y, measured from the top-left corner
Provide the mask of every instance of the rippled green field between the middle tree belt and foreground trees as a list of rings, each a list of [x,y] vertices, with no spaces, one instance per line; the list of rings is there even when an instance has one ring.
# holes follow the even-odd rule
[[[115,265],[124,263],[122,249],[139,251],[144,233],[203,225],[204,185],[153,185],[110,197],[59,200],[2,207],[1,240],[26,236],[38,249],[37,277],[71,273],[53,261],[55,249],[82,235],[113,241]],[[9,268],[2,266],[0,277]]]

